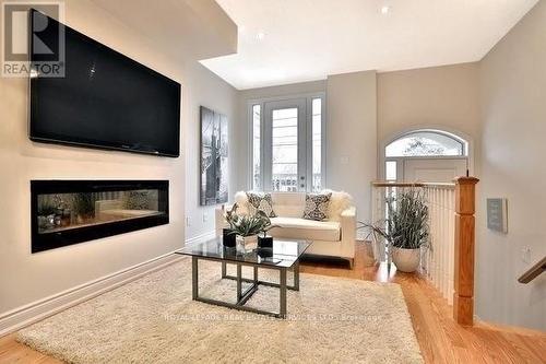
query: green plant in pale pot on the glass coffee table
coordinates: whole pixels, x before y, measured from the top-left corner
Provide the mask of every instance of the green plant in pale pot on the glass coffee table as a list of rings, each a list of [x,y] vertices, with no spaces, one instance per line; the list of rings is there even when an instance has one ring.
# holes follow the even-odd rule
[[[244,250],[251,250],[258,246],[258,234],[262,233],[265,235],[271,228],[276,227],[271,224],[270,218],[262,211],[258,211],[258,213],[252,216],[241,216],[237,215],[234,213],[234,210],[232,210],[226,213],[226,220],[230,230],[228,234],[235,234],[237,236],[237,244],[241,246]]]

